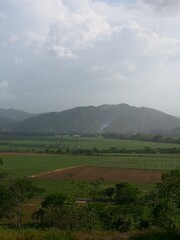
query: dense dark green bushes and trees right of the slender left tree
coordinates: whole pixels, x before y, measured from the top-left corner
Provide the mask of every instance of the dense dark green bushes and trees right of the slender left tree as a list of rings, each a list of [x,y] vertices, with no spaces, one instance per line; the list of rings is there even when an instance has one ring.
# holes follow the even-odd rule
[[[150,227],[178,231],[179,186],[180,170],[162,175],[162,182],[146,195],[122,182],[101,191],[100,196],[95,184],[92,198],[84,203],[63,194],[47,196],[33,217],[41,227],[70,231],[101,229],[126,232]]]

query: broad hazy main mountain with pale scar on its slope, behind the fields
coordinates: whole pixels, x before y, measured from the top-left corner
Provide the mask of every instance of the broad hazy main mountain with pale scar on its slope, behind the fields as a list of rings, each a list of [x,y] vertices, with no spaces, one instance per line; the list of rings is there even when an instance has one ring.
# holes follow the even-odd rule
[[[127,104],[77,107],[16,123],[17,133],[151,133],[180,127],[180,119],[150,108]]]

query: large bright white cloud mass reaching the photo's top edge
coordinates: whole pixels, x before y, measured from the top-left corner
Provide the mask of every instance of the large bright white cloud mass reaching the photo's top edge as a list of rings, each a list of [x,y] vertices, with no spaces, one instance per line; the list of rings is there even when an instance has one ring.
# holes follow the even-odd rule
[[[13,0],[24,12],[37,21],[34,31],[27,30],[27,46],[44,47],[64,55],[77,55],[80,49],[88,49],[97,41],[108,40],[118,31],[105,16],[93,9],[93,1],[61,0]],[[73,7],[72,7],[73,6]],[[37,30],[35,31],[35,28]],[[58,49],[58,50],[57,50]],[[68,53],[65,53],[68,52]],[[71,52],[71,53],[70,53]]]

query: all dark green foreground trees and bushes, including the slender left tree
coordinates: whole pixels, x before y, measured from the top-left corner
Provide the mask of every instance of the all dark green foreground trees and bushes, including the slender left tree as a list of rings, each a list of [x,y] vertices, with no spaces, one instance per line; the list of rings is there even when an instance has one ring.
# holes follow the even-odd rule
[[[177,237],[180,231],[179,186],[180,170],[172,170],[163,174],[162,182],[146,194],[125,182],[106,188],[101,194],[94,183],[91,198],[83,203],[77,202],[72,195],[51,194],[32,214],[33,226],[68,233],[130,232],[159,228],[173,232],[172,236]],[[1,182],[0,218],[7,219],[9,226],[22,229],[23,204],[41,192],[42,189],[35,187],[28,179]],[[42,239],[77,239],[75,235],[69,238],[57,234]]]

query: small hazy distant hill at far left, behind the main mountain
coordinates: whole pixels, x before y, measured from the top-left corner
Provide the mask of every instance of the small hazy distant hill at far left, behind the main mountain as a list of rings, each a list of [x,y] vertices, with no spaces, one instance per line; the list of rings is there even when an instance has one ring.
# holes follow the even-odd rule
[[[0,116],[11,119],[14,122],[23,121],[29,117],[35,116],[34,114],[27,113],[16,109],[2,109],[0,108]]]

